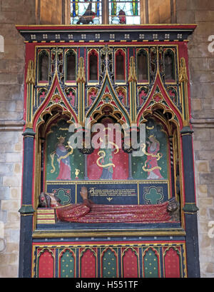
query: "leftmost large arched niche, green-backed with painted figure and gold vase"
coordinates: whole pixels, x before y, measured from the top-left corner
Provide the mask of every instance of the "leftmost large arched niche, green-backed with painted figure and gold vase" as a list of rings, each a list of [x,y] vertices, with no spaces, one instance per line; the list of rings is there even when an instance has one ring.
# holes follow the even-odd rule
[[[71,114],[63,112],[60,106],[54,106],[42,116],[36,127],[35,145],[35,208],[39,205],[39,194],[44,191],[54,193],[61,204],[74,203],[71,190],[61,187],[61,182],[83,179],[84,158],[78,148],[72,148],[69,131]],[[78,173],[76,173],[78,169]]]

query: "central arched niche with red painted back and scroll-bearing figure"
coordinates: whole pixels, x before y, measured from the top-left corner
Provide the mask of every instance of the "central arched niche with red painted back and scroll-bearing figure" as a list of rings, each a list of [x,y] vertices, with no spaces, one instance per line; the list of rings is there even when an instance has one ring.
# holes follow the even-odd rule
[[[122,149],[123,131],[122,113],[110,104],[104,105],[92,115],[91,126],[101,125],[102,140],[98,139],[93,153],[87,157],[87,173],[89,179],[116,180],[128,179],[128,153]],[[92,128],[93,130],[93,128]],[[91,144],[96,140],[99,131],[91,135]],[[106,138],[108,137],[108,138]],[[111,148],[110,148],[111,147]]]

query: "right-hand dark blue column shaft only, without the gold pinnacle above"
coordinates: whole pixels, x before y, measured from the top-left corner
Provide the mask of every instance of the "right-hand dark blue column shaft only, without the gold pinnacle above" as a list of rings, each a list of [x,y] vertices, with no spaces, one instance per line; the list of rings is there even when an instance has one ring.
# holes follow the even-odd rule
[[[193,166],[193,131],[189,126],[180,131],[183,144],[183,172],[185,185],[185,241],[187,256],[188,278],[200,277],[199,250],[198,250],[198,207],[195,203],[195,180]]]

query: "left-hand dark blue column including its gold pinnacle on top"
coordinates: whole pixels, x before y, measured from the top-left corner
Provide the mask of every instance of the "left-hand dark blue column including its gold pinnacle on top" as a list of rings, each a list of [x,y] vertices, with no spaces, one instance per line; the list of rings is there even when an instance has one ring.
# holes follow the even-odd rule
[[[34,62],[29,61],[26,77],[26,129],[24,131],[24,160],[22,177],[22,198],[19,242],[19,277],[31,277],[32,231],[34,208],[32,206],[32,182],[34,170],[34,136],[32,116],[34,104]]]

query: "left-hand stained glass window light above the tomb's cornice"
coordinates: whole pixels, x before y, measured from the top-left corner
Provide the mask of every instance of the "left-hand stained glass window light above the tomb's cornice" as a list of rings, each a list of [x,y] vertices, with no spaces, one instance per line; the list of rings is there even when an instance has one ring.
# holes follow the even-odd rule
[[[101,24],[101,0],[71,1],[71,24]]]

